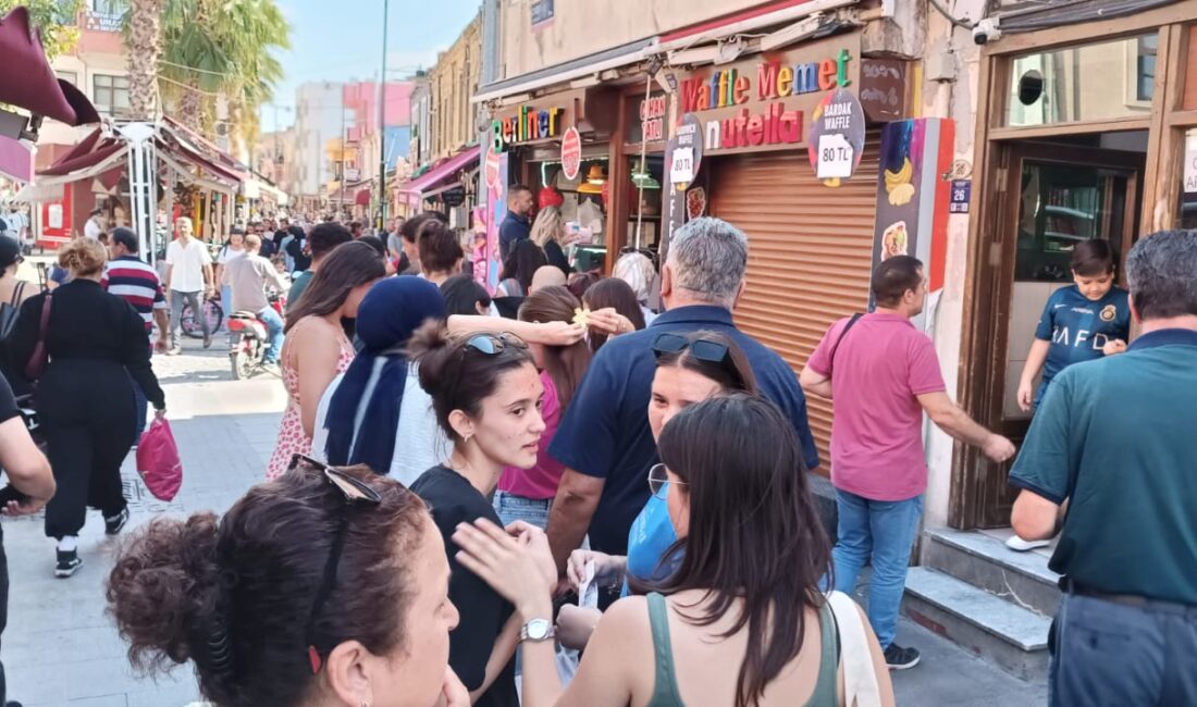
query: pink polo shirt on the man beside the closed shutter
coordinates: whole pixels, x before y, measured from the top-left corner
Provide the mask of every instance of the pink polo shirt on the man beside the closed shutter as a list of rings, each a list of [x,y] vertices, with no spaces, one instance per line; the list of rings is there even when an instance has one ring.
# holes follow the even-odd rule
[[[944,390],[935,346],[910,319],[874,312],[836,348],[846,324],[846,318],[832,324],[807,362],[832,377],[832,484],[877,501],[915,498],[926,490],[923,408],[916,396]]]

